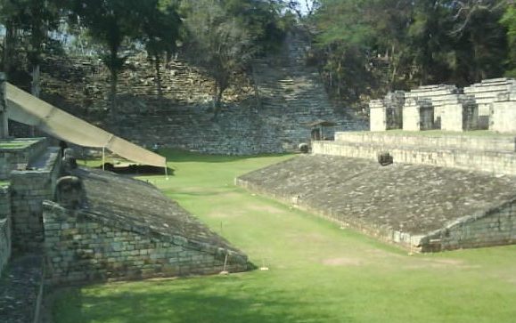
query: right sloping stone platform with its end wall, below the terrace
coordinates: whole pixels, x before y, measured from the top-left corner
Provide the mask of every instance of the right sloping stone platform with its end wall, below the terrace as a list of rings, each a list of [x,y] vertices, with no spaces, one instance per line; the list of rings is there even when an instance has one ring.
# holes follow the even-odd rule
[[[301,156],[237,184],[422,252],[516,242],[516,178]]]

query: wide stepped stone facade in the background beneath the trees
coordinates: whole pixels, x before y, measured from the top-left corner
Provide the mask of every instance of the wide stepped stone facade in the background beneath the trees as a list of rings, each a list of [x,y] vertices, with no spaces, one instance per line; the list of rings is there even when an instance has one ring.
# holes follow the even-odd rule
[[[337,130],[365,129],[365,122],[332,105],[317,70],[307,67],[307,48],[303,37],[293,33],[281,51],[253,61],[252,73],[226,90],[217,120],[213,80],[181,59],[163,68],[159,97],[152,64],[143,55],[129,58],[119,77],[116,113],[110,113],[107,100],[109,73],[94,59],[48,59],[42,67],[42,95],[142,146],[210,154],[293,151],[309,141],[307,125],[319,120],[335,124],[325,133],[330,138]]]

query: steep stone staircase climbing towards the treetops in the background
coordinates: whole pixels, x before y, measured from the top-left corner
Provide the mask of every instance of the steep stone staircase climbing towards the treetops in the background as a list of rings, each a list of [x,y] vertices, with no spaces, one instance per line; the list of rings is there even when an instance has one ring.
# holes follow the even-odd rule
[[[364,128],[353,116],[335,111],[317,70],[307,67],[308,48],[303,36],[294,31],[280,53],[254,62],[260,109],[278,118],[284,136],[297,133],[299,138],[309,138],[310,129],[299,125],[316,120],[332,121],[340,131]]]

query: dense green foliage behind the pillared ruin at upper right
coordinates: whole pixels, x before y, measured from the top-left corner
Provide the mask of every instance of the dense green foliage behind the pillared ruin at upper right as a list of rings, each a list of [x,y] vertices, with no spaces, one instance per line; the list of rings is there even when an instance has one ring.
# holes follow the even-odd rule
[[[506,12],[508,29],[510,8],[504,0],[323,0],[308,21],[328,89],[354,102],[414,85],[502,76],[511,36],[499,20]]]

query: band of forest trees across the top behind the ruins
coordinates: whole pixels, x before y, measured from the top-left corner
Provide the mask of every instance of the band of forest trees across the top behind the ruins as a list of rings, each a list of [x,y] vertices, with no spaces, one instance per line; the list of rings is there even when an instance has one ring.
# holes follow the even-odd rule
[[[153,61],[158,92],[160,69],[177,53],[207,69],[217,105],[232,76],[281,50],[292,30],[346,105],[417,85],[516,76],[512,0],[0,0],[0,25],[8,75],[25,72],[38,94],[45,55],[97,55],[111,71],[113,108],[135,48]]]

